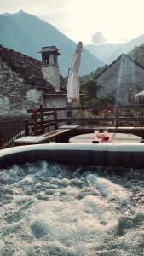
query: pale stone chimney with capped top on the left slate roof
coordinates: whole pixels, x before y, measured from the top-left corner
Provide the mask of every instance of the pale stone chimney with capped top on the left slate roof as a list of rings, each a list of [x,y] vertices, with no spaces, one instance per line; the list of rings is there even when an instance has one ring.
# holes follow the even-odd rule
[[[61,55],[55,46],[46,46],[41,50],[43,78],[60,91],[60,72],[58,55]]]

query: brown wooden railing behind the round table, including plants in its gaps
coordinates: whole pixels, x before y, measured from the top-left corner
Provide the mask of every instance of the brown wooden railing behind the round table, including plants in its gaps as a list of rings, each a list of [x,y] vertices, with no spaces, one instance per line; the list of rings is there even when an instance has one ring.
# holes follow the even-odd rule
[[[144,105],[124,105],[124,106],[96,106],[91,107],[67,107],[43,108],[41,105],[37,109],[28,109],[31,113],[32,121],[26,121],[26,135],[30,134],[30,128],[34,135],[43,134],[49,130],[49,126],[54,126],[56,130],[61,122],[66,125],[110,125],[118,126],[144,126]],[[64,118],[59,117],[59,112],[65,113]],[[47,119],[51,117],[50,119]]]

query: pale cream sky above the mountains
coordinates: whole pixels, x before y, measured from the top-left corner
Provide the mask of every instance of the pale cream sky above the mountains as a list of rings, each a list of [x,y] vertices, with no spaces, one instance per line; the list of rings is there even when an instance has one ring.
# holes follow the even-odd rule
[[[144,0],[0,0],[0,13],[20,9],[83,44],[122,43],[144,34]]]

